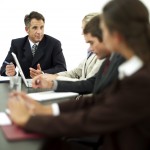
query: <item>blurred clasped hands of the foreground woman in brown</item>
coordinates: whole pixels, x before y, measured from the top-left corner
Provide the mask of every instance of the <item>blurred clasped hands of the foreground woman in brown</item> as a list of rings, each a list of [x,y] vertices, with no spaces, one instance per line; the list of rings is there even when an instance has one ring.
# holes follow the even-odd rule
[[[51,106],[44,106],[23,92],[12,92],[9,96],[8,108],[13,122],[24,126],[34,115],[52,115]]]

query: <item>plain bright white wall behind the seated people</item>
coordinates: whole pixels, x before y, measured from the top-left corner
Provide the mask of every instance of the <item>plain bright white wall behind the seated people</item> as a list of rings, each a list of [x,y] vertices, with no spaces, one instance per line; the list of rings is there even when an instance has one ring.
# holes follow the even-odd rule
[[[142,0],[150,8],[149,0]],[[46,19],[45,33],[62,43],[67,68],[71,69],[86,56],[81,20],[87,13],[101,12],[108,0],[2,0],[0,4],[0,66],[10,48],[11,39],[26,35],[24,16],[31,11]]]

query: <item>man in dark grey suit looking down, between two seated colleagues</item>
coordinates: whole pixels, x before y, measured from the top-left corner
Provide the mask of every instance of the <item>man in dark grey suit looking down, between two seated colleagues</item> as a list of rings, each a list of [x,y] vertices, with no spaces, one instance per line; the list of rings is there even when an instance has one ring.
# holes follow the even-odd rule
[[[99,28],[100,17],[93,17],[85,26],[83,33],[85,40],[90,44],[94,53],[99,59],[106,58],[97,74],[87,80],[82,81],[51,81],[48,78],[49,85],[45,88],[51,88],[56,92],[77,92],[80,94],[100,93],[105,87],[118,77],[118,66],[124,61],[124,58],[118,54],[110,53],[102,41],[102,31]],[[111,56],[110,56],[111,55]],[[107,62],[110,61],[109,66]],[[106,70],[107,67],[107,70]],[[105,73],[104,73],[105,69]],[[45,75],[41,75],[45,77]],[[37,77],[38,78],[38,77]],[[35,79],[36,80],[36,79]],[[42,85],[33,85],[33,87],[42,87]],[[46,86],[46,84],[44,85]]]

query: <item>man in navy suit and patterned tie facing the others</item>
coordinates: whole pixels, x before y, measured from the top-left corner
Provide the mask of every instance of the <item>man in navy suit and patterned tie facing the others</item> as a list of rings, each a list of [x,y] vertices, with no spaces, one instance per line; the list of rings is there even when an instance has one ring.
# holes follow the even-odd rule
[[[1,75],[14,76],[16,74],[12,52],[17,55],[26,78],[33,78],[42,73],[65,71],[66,62],[61,43],[44,34],[45,18],[43,15],[33,11],[25,16],[24,22],[28,36],[12,40],[8,55],[1,67]]]

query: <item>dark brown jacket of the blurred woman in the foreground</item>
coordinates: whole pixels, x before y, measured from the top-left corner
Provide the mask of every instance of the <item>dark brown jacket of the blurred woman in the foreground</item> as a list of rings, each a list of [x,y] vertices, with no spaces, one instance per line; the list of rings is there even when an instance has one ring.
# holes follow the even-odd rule
[[[149,93],[150,66],[118,80],[102,94],[60,103],[57,117],[32,116],[25,129],[50,138],[99,134],[105,150],[149,150]]]

